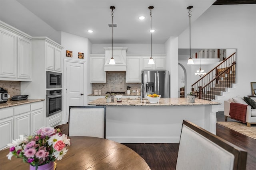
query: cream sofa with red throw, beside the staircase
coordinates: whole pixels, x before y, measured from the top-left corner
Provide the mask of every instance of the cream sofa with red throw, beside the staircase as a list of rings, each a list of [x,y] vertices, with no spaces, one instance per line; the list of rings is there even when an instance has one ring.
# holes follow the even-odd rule
[[[245,97],[246,98],[246,97]],[[246,98],[247,99],[247,98]],[[256,97],[255,98],[250,98],[256,102]],[[234,98],[230,98],[228,100],[224,100],[224,115],[225,115],[225,121],[228,120],[228,117],[230,117],[230,104],[231,103],[238,103],[238,104],[243,104],[247,105],[246,107],[246,117],[245,117],[245,122],[247,123],[248,127],[251,127],[251,124],[256,124],[256,108],[255,105],[250,106],[244,98],[240,96],[236,96]]]

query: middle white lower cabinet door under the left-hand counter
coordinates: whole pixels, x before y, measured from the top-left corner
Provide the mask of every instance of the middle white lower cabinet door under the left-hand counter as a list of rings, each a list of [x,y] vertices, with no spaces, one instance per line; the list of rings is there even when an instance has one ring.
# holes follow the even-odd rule
[[[20,138],[20,135],[30,135],[30,112],[14,116],[14,139]]]

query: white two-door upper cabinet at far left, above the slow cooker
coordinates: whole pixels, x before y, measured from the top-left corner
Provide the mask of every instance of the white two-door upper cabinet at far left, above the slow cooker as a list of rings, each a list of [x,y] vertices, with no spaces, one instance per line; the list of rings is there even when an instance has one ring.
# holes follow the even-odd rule
[[[31,81],[31,39],[4,27],[0,27],[0,80]]]

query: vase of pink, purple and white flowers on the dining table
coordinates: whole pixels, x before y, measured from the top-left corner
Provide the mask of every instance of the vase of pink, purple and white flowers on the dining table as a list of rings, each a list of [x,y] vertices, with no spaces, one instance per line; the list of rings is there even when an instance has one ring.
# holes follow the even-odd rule
[[[13,140],[8,144],[10,152],[7,155],[22,158],[23,162],[30,164],[30,170],[54,170],[54,161],[61,160],[70,146],[67,135],[61,134],[60,129],[42,127],[36,135]]]

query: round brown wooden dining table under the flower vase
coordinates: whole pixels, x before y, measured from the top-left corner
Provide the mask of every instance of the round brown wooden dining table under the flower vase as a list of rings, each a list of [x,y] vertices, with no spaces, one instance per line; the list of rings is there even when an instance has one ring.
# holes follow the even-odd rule
[[[96,137],[70,137],[71,145],[62,160],[56,160],[56,170],[150,170],[145,160],[134,150],[120,143]],[[28,170],[29,164],[12,156],[9,149],[0,151],[1,170]]]

